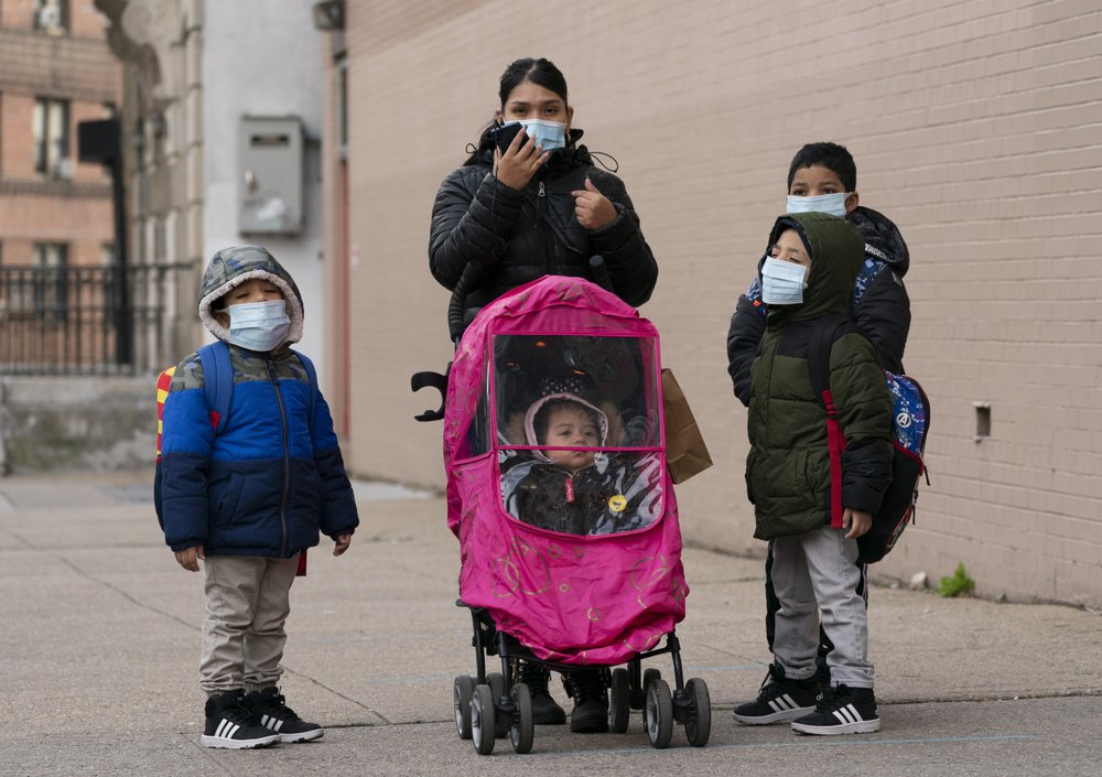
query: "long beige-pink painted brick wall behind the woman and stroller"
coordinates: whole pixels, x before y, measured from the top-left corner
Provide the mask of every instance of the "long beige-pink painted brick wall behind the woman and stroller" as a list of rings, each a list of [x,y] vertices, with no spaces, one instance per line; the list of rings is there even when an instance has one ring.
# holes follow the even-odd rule
[[[436,187],[517,56],[571,86],[661,274],[642,313],[715,466],[679,488],[696,543],[760,552],[724,336],[802,143],[846,144],[912,257],[907,365],[932,487],[879,571],[1102,604],[1102,10],[1095,0],[349,3],[350,436],[360,475],[440,485],[409,375],[449,357],[428,271]],[[974,402],[992,435],[974,440]],[[368,517],[369,519],[369,517]],[[443,520],[443,518],[442,518]]]

